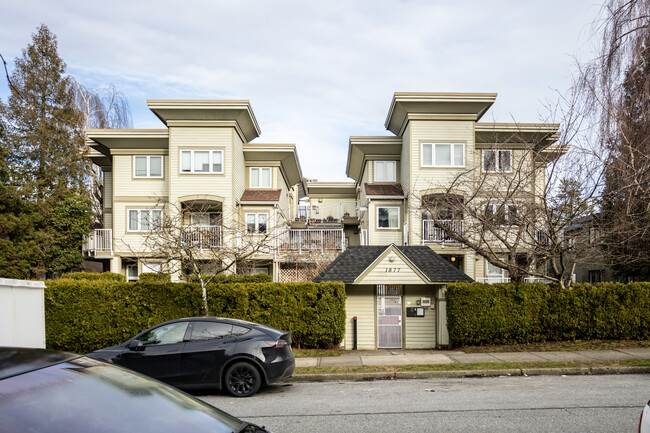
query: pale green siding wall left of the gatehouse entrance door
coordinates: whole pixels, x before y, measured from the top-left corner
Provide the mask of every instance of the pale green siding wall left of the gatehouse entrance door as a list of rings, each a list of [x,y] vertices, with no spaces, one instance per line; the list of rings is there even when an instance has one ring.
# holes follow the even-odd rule
[[[345,339],[343,346],[352,350],[354,344],[353,318],[357,317],[357,349],[374,350],[377,348],[374,286],[346,286],[345,301]]]

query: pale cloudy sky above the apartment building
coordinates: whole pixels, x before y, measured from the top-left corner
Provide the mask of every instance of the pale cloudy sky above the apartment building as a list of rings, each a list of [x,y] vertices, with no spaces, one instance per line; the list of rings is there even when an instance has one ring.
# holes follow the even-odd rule
[[[295,143],[303,174],[346,180],[351,135],[389,135],[394,92],[497,92],[484,121],[535,122],[591,55],[594,0],[0,0],[13,59],[45,23],[68,72],[146,99],[248,99],[256,142]],[[7,97],[6,82],[0,98]]]

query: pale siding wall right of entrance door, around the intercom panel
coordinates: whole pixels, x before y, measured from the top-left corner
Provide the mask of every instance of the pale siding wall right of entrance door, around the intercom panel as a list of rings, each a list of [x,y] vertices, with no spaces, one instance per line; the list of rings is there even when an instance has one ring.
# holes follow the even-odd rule
[[[417,301],[422,297],[431,299],[431,307],[424,312],[424,317],[406,317],[406,307],[417,307]],[[436,345],[435,289],[427,286],[407,286],[404,305],[404,348],[434,348]]]

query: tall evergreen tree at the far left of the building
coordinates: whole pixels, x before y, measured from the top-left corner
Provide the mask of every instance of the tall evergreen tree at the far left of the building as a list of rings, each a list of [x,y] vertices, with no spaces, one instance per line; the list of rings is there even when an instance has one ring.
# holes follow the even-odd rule
[[[45,25],[15,60],[0,101],[0,276],[41,277],[77,266],[91,222],[84,118]]]

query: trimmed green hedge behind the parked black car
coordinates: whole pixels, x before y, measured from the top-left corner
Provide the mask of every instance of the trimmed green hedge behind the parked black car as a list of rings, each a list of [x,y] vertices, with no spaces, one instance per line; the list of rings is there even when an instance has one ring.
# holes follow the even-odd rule
[[[76,277],[45,285],[46,345],[56,350],[85,353],[116,345],[157,323],[203,311],[196,283]],[[333,347],[344,335],[342,283],[211,284],[208,304],[214,316],[291,331],[295,347]]]

